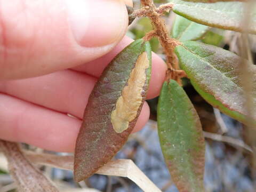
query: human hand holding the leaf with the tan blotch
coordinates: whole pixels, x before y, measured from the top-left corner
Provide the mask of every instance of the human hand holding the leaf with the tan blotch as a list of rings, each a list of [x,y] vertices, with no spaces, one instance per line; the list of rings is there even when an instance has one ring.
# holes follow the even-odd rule
[[[132,41],[127,20],[122,0],[0,0],[0,139],[74,151],[97,78]],[[165,70],[153,55],[148,99]],[[145,102],[134,131],[148,118]]]

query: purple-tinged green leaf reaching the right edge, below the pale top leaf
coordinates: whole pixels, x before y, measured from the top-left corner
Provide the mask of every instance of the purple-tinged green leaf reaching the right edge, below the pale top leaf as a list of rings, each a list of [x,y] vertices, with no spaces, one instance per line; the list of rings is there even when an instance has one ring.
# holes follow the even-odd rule
[[[251,106],[253,106],[252,109],[256,109],[256,67],[254,65],[247,61],[244,64],[242,58],[235,53],[199,42],[185,42],[175,48],[175,53],[179,58],[181,68],[186,71],[191,82],[196,85],[196,89],[212,95],[214,100],[222,103],[225,109],[219,108],[223,113],[245,124],[255,123],[255,111],[251,114],[254,119],[253,123],[244,122],[241,117],[237,117],[237,113],[237,115],[230,113],[230,111],[236,111],[244,116],[248,114],[240,75],[241,65],[245,65],[243,67],[247,70],[246,74],[252,76],[253,103]],[[206,100],[212,100],[209,101],[212,103],[213,98]],[[226,108],[230,111],[227,112]]]

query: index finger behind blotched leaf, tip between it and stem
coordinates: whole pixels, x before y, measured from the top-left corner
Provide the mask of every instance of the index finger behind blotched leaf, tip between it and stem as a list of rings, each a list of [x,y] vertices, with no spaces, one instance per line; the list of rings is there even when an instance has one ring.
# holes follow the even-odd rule
[[[84,65],[77,66],[73,68],[77,71],[82,71],[84,73],[90,74],[95,77],[99,77],[105,67],[109,64],[109,62],[119,53],[124,47],[133,42],[133,39],[125,36],[121,42],[115,46],[113,50],[111,50],[108,54],[103,55],[99,59],[95,59],[91,62],[87,62]],[[159,95],[162,84],[165,79],[167,67],[165,62],[153,52],[152,54],[152,74],[149,83],[149,90],[147,98],[155,98]]]

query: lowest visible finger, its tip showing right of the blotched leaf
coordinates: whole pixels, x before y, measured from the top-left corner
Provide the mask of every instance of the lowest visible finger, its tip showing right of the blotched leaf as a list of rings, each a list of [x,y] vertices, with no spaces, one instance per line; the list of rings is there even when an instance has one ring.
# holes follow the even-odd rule
[[[0,139],[25,142],[54,151],[74,151],[82,123],[80,120],[9,95],[0,94],[0,100]],[[148,117],[149,107],[146,104],[134,131],[140,130]]]

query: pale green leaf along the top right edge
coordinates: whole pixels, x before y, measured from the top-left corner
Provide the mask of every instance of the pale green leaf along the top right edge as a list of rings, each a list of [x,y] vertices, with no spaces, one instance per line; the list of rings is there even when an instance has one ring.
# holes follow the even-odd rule
[[[221,29],[242,31],[245,2],[195,3],[182,0],[169,0],[173,11],[182,17],[203,25]],[[256,34],[256,5],[252,7],[249,31]]]

